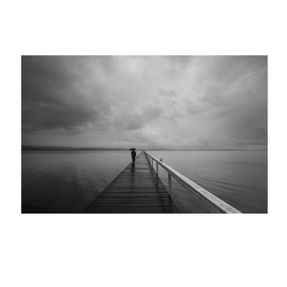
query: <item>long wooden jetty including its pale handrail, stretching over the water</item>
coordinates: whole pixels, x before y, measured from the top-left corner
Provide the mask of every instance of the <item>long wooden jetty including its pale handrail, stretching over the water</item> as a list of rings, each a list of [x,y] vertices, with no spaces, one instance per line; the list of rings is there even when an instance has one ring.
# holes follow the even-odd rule
[[[168,190],[158,177],[159,166],[168,173]],[[136,164],[129,164],[83,212],[179,213],[172,200],[172,178],[195,199],[194,213],[241,213],[148,152],[141,152]]]

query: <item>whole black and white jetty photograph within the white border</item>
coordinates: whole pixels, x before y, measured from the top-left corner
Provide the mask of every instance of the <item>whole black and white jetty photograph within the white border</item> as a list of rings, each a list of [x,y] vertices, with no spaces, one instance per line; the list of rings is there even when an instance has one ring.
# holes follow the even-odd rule
[[[268,56],[22,55],[21,213],[268,213]]]

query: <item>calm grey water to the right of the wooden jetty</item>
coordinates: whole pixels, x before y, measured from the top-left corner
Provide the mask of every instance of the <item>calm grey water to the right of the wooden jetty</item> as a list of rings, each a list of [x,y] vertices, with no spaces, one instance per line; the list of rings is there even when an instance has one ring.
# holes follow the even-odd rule
[[[267,212],[267,150],[177,150],[150,151],[182,175],[226,201],[241,212]],[[168,186],[167,172],[159,177]],[[192,212],[193,198],[172,180],[174,201],[181,212]]]

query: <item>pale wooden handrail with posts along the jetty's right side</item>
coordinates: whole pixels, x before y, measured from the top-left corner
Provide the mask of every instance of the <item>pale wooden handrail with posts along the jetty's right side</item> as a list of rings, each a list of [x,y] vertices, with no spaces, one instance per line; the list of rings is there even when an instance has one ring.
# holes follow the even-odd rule
[[[206,209],[208,209],[212,213],[241,213],[236,208],[233,208],[229,204],[226,204],[223,200],[219,199],[215,195],[212,195],[210,192],[201,188],[198,184],[191,181],[181,173],[177,172],[173,168],[170,168],[167,164],[159,161],[152,155],[148,154],[148,152],[144,151],[146,158],[150,161],[150,164],[153,168],[153,161],[157,163],[157,174],[159,173],[159,166],[164,168],[168,172],[168,191],[170,195],[172,195],[172,183],[171,177],[173,177],[182,187],[184,187],[190,194],[195,197]]]

